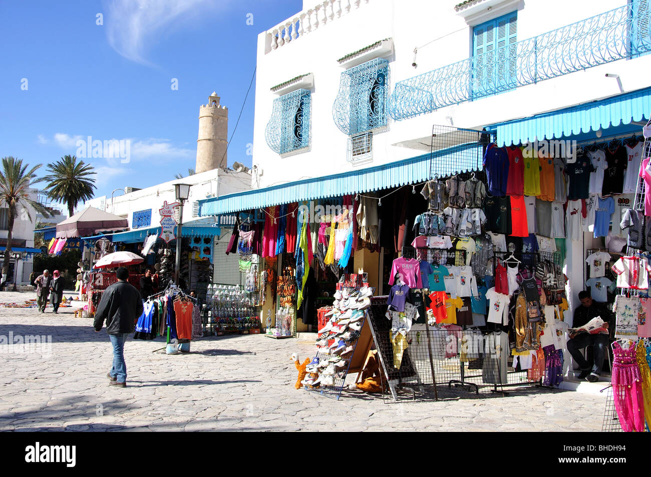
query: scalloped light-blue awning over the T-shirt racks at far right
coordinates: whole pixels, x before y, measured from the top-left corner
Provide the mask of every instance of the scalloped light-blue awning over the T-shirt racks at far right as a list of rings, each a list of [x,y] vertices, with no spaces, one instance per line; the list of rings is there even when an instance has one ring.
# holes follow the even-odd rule
[[[645,88],[529,118],[493,124],[486,129],[497,131],[498,146],[509,146],[533,143],[536,139],[561,139],[591,130],[630,124],[632,121],[646,120],[650,114],[651,88]]]

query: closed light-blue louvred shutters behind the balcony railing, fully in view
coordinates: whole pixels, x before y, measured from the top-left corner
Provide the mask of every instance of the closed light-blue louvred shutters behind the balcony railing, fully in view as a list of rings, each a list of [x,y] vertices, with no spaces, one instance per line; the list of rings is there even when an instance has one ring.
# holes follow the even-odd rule
[[[518,12],[473,29],[473,96],[516,87]]]

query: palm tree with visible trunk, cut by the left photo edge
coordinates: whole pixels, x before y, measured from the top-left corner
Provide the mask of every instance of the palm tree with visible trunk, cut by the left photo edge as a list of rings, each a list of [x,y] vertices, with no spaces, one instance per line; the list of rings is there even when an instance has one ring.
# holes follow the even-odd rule
[[[2,170],[0,170],[0,203],[8,209],[7,218],[7,248],[5,249],[5,260],[2,266],[2,273],[6,276],[9,273],[9,258],[11,256],[11,240],[14,231],[14,221],[18,215],[18,206],[27,213],[29,221],[32,220],[29,207],[33,208],[36,213],[41,213],[44,217],[51,217],[53,214],[49,208],[33,200],[34,191],[30,190],[29,185],[36,177],[36,170],[41,164],[35,165],[29,171],[29,165],[23,165],[22,159],[8,156],[2,158]],[[29,206],[29,207],[28,207]]]

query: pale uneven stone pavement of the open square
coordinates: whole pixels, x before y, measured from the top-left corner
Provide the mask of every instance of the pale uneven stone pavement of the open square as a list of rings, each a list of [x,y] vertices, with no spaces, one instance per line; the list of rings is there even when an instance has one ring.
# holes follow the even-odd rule
[[[23,302],[31,293],[0,293]],[[598,431],[605,396],[516,392],[447,402],[384,403],[344,391],[339,401],[294,389],[313,347],[263,335],[204,338],[191,353],[165,355],[128,340],[126,388],[109,387],[111,346],[92,320],[35,308],[0,307],[0,430],[16,431]],[[48,349],[17,351],[2,336],[51,336]],[[43,353],[45,351],[45,353]],[[350,379],[350,378],[349,378]],[[347,381],[348,382],[348,381]]]

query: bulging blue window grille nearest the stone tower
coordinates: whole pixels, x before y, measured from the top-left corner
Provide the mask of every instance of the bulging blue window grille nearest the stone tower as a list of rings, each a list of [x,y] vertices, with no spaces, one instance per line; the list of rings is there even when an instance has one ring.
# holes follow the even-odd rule
[[[273,111],[265,131],[271,150],[287,154],[309,146],[310,106],[310,92],[305,89],[273,100]]]

